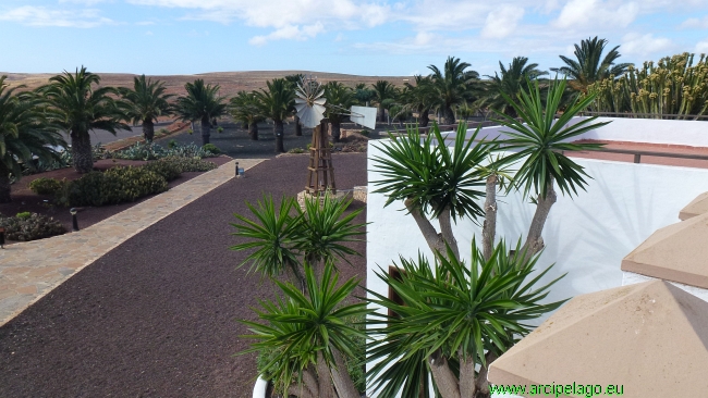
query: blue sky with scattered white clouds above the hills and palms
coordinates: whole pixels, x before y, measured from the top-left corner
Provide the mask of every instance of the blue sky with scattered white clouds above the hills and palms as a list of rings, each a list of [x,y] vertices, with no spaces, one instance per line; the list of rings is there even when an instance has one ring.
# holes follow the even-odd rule
[[[0,0],[0,71],[195,74],[309,70],[481,74],[600,36],[622,62],[708,52],[708,0]]]

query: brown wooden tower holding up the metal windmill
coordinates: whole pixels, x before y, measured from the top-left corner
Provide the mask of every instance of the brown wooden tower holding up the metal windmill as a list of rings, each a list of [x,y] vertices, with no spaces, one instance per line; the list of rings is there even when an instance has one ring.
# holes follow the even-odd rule
[[[327,120],[313,130],[313,145],[309,147],[309,166],[307,167],[307,186],[305,190],[312,196],[330,191],[337,195],[334,183],[334,167],[332,166],[332,152],[327,138]]]

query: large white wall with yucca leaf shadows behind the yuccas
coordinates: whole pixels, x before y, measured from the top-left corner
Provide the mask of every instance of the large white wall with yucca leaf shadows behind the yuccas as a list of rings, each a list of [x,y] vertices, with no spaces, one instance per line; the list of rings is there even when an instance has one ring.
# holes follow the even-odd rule
[[[367,226],[366,256],[367,287],[387,295],[386,284],[374,274],[378,265],[388,270],[399,253],[415,258],[419,250],[431,258],[431,252],[413,217],[401,211],[403,203],[384,209],[386,197],[374,194],[377,187],[373,182],[381,176],[374,171],[373,158],[382,156],[377,148],[382,142],[386,141],[370,141],[368,149],[367,221],[371,224]],[[708,170],[574,160],[594,179],[589,179],[587,191],[579,191],[577,197],[559,194],[547,220],[546,250],[537,264],[540,268],[556,263],[546,281],[567,273],[552,287],[547,300],[621,286],[622,259],[656,229],[679,222],[680,210],[708,191]],[[497,236],[515,244],[526,235],[535,207],[517,192],[500,196],[498,201]],[[454,233],[461,254],[468,259],[472,237],[476,236],[480,244],[480,227],[465,219],[454,225]]]

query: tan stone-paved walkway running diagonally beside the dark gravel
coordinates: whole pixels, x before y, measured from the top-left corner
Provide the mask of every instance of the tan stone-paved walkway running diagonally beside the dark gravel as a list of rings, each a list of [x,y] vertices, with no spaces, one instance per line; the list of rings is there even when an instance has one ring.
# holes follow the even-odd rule
[[[264,159],[241,159],[251,169]],[[0,326],[117,246],[234,177],[236,160],[85,229],[0,250]]]

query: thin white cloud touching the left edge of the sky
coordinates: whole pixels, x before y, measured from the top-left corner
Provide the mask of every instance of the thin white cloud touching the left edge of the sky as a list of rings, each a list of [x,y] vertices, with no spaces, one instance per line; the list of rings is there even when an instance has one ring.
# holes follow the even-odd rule
[[[45,7],[24,5],[0,13],[0,21],[11,21],[29,26],[59,26],[89,28],[115,24],[99,15],[98,10],[51,10]]]

